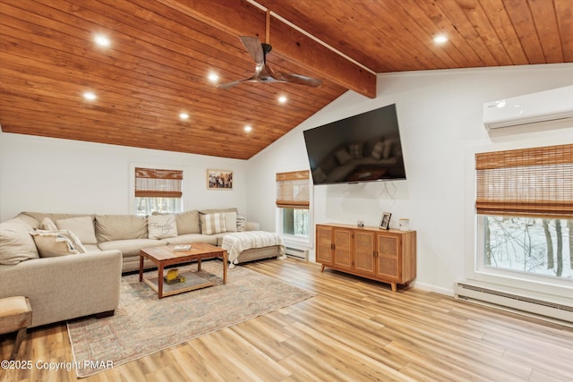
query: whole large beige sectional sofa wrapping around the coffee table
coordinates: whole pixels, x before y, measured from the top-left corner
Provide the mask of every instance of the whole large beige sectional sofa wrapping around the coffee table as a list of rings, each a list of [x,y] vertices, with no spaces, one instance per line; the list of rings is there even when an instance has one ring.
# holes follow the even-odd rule
[[[139,269],[141,249],[192,242],[220,245],[227,233],[257,229],[236,208],[175,216],[22,212],[0,223],[0,298],[27,296],[32,327],[110,314],[119,303],[121,274]],[[62,256],[67,254],[81,255]],[[245,250],[240,262],[280,254],[284,247]],[[154,267],[150,262],[145,266]]]

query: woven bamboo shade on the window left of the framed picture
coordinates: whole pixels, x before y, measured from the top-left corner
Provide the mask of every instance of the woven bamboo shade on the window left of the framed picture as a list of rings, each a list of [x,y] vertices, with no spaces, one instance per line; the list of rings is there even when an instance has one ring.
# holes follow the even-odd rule
[[[181,198],[183,171],[135,167],[135,196]]]

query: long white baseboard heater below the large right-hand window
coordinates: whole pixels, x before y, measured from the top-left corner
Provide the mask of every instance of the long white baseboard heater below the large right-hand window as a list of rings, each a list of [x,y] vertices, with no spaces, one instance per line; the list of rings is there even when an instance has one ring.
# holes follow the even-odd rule
[[[534,314],[539,318],[553,318],[573,323],[573,303],[565,305],[466,283],[457,283],[455,292],[456,298],[461,300],[493,304],[517,312]]]

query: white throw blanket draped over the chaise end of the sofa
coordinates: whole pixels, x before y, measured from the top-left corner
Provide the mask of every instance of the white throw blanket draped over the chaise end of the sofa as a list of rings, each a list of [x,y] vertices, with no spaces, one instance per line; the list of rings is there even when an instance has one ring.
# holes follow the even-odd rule
[[[231,268],[233,268],[239,262],[238,257],[244,250],[271,247],[273,245],[279,246],[280,256],[285,255],[285,242],[283,242],[283,238],[278,233],[244,231],[226,234],[223,237],[221,248],[227,250],[228,260],[231,263]]]

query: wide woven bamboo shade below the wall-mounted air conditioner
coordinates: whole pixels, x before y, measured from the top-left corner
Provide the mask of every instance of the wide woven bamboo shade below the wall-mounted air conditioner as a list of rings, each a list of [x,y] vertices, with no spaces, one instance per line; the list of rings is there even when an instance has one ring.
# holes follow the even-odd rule
[[[573,145],[475,155],[480,215],[573,217]]]

